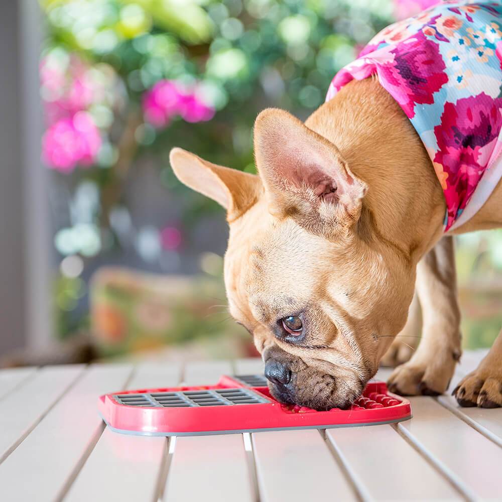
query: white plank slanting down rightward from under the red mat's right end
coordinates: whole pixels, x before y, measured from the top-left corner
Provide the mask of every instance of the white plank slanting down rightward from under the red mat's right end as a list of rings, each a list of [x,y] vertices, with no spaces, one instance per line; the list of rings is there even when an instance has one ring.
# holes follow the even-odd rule
[[[327,429],[326,437],[366,498],[463,500],[446,478],[390,425]]]

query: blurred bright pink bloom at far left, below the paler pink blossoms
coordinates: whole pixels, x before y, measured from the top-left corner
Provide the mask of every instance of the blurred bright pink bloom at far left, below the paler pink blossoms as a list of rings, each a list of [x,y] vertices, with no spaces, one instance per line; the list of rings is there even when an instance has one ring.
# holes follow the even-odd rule
[[[42,158],[49,167],[69,173],[77,164],[91,165],[100,148],[99,129],[87,112],[79,111],[47,129],[42,140]]]

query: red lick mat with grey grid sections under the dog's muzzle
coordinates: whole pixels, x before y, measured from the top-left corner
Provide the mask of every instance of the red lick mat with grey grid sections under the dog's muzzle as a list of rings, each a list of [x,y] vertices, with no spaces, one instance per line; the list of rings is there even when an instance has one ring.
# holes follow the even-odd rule
[[[411,418],[407,399],[384,382],[366,385],[349,410],[285,406],[261,375],[223,375],[216,385],[140,389],[99,398],[99,413],[115,432],[147,436],[198,436],[278,429],[324,429],[390,424]]]

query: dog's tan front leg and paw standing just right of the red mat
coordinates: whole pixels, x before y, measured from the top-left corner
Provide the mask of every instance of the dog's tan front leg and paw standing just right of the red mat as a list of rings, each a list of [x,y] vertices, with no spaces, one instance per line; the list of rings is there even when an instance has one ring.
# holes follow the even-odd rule
[[[397,394],[435,396],[448,388],[461,355],[453,237],[443,237],[418,264],[417,293],[422,339],[412,358],[391,374],[389,388]]]

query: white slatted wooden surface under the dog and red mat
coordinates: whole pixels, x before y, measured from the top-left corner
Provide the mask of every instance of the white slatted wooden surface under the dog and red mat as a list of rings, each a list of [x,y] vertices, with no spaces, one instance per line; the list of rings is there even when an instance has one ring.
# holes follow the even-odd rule
[[[464,355],[452,388],[482,355]],[[262,371],[255,359],[0,371],[0,500],[502,500],[502,409],[449,396],[412,398],[397,426],[171,439],[113,433],[96,410],[107,392]]]

